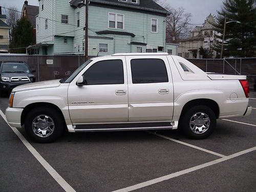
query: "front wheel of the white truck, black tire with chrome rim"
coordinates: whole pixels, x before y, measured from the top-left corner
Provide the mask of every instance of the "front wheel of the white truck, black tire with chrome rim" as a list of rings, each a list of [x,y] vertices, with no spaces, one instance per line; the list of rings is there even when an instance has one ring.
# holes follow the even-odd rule
[[[45,129],[50,130],[46,132],[49,135],[43,135],[42,132],[37,134],[35,133],[36,127],[32,126],[32,122],[35,120],[35,118],[38,119],[37,118],[38,116],[40,117],[40,120],[41,120],[40,122],[42,122],[41,127],[46,126]],[[45,119],[48,119],[46,121],[49,124],[53,123],[53,125],[48,126],[48,123],[46,125]],[[44,120],[44,122],[42,120]],[[39,121],[37,120],[37,122]],[[49,129],[47,129],[47,127]],[[39,142],[39,143],[50,143],[50,142],[56,141],[63,133],[64,127],[65,127],[65,122],[61,117],[61,115],[56,110],[50,109],[47,107],[40,107],[40,108],[33,109],[27,114],[25,118],[25,130],[27,134],[33,141]]]

